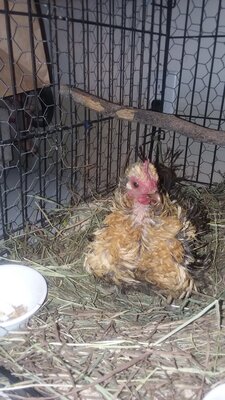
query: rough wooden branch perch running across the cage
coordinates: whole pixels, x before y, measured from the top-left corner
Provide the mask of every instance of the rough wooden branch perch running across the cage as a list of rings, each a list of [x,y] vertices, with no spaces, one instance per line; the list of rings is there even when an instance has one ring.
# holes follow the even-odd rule
[[[172,114],[120,106],[66,85],[61,86],[60,93],[71,94],[76,103],[106,116],[156,126],[166,131],[176,131],[199,142],[213,143],[220,146],[225,145],[225,131],[204,128]]]

